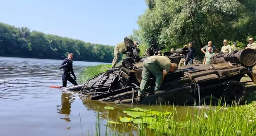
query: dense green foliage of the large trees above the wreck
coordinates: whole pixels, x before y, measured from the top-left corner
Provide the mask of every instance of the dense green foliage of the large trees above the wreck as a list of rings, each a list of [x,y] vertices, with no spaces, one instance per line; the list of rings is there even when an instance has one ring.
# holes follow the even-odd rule
[[[200,50],[208,41],[221,49],[227,39],[244,48],[256,36],[255,0],[145,0],[148,9],[140,15],[135,31],[149,44],[151,37],[166,50],[194,42]]]

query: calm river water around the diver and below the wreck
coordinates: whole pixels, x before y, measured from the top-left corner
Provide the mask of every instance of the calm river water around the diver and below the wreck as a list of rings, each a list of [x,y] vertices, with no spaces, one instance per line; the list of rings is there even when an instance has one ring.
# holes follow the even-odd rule
[[[91,101],[72,92],[62,92],[50,85],[61,85],[62,60],[0,57],[0,136],[90,136],[95,135],[99,113],[100,130],[105,135],[107,111],[113,106],[111,119],[123,116],[131,105]],[[105,63],[74,61],[77,77],[87,66]],[[71,84],[68,82],[67,86]],[[172,106],[134,105],[133,108],[154,110],[172,109]],[[185,114],[186,107],[176,107]],[[193,108],[191,108],[193,111]],[[139,136],[136,129],[127,130],[130,136]]]

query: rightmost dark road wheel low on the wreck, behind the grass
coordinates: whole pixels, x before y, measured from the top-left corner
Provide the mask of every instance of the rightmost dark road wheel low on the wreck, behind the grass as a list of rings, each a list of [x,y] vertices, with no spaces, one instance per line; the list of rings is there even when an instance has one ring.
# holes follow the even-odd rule
[[[241,82],[228,81],[224,82],[224,98],[227,104],[232,104],[233,101],[236,104],[242,104],[245,99],[245,87]]]

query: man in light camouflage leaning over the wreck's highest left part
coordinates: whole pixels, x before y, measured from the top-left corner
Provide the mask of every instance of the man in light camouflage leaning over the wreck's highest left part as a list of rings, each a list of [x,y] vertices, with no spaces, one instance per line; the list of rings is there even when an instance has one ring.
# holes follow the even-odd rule
[[[134,41],[134,46],[139,47],[139,43],[137,41]],[[111,68],[115,68],[116,62],[120,56],[120,54],[125,54],[128,51],[125,42],[120,42],[118,43],[115,48],[114,48],[114,59],[112,61],[112,66]]]

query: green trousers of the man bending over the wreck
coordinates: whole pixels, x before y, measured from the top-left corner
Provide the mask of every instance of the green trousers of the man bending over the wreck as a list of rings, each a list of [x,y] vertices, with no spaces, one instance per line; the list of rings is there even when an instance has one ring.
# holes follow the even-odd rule
[[[139,90],[140,93],[143,94],[145,92],[145,87],[148,82],[150,73],[152,73],[156,77],[156,82],[155,82],[156,85],[154,87],[154,91],[158,91],[162,84],[163,72],[160,70],[160,68],[155,63],[155,61],[151,59],[145,59],[143,62],[142,68],[143,68],[141,73],[142,80],[140,82],[140,90]]]

